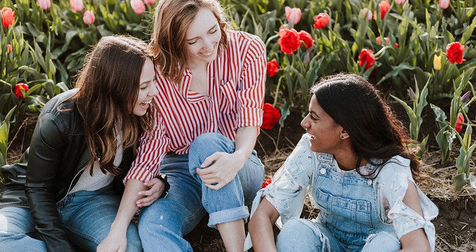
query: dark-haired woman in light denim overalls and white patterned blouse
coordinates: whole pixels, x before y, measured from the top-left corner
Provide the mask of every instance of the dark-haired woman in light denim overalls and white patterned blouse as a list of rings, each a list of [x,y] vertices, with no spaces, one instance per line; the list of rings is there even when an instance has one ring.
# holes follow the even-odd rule
[[[311,94],[307,134],[253,202],[254,250],[433,251],[437,208],[416,187],[419,161],[377,90],[337,74]],[[306,193],[320,210],[314,220],[299,218]]]

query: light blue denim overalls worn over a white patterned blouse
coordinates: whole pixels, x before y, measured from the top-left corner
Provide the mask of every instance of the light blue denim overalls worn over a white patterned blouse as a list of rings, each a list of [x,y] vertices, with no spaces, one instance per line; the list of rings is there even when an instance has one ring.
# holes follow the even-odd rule
[[[332,159],[319,153],[314,168],[311,195],[318,217],[286,222],[276,239],[278,251],[398,251],[393,225],[381,221],[374,181],[335,171]]]

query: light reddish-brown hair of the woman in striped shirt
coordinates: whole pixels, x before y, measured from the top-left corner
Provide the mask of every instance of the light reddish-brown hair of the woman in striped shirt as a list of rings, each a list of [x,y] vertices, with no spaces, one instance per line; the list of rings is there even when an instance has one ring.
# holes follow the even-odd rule
[[[155,8],[151,48],[162,75],[181,85],[188,64],[186,32],[200,8],[214,13],[221,30],[218,55],[228,46],[228,24],[216,0],[162,0]]]

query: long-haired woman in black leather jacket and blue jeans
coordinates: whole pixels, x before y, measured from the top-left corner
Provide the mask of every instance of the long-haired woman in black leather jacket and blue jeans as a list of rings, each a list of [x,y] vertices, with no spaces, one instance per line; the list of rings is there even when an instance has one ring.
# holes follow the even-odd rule
[[[45,104],[22,162],[2,167],[3,251],[74,251],[70,241],[96,251],[118,212],[139,135],[151,131],[144,115],[158,95],[154,80],[144,41],[101,38],[87,55],[77,88]],[[147,197],[124,197],[151,204],[163,190],[157,181],[146,183],[151,189],[141,193]],[[127,251],[142,251],[131,218],[123,232]]]

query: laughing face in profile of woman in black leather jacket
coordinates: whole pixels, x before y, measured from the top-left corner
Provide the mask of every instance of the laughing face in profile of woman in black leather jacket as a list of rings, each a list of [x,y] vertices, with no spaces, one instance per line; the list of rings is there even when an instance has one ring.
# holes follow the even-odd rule
[[[151,59],[146,59],[142,66],[142,73],[139,82],[139,93],[134,104],[134,115],[144,116],[147,112],[153,97],[158,95],[157,87],[155,87],[155,69]]]

